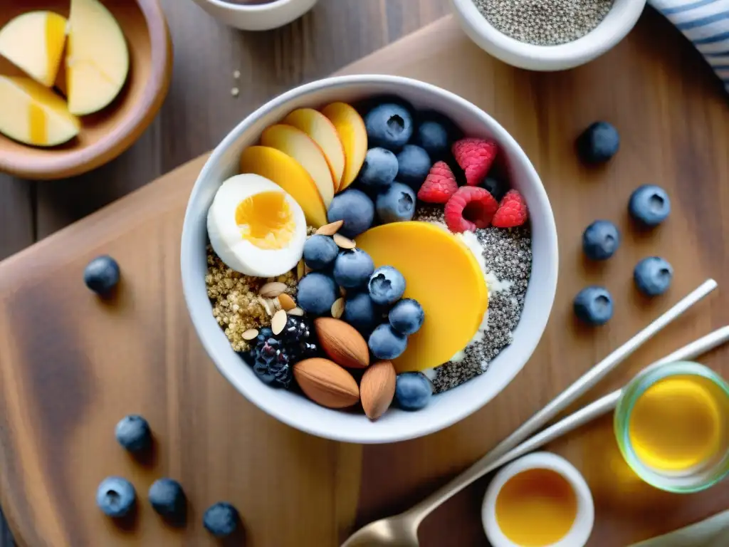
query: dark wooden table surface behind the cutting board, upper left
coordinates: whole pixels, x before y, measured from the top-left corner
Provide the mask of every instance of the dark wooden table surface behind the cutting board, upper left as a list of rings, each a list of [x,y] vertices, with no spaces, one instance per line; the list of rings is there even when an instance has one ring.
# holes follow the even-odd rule
[[[160,115],[128,152],[84,176],[34,182],[0,174],[0,260],[210,150],[268,98],[325,77],[449,11],[443,0],[320,0],[289,26],[243,33],[191,0],[161,1],[175,62]],[[236,87],[240,94],[233,97]],[[0,513],[0,547],[12,545]]]

